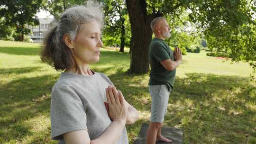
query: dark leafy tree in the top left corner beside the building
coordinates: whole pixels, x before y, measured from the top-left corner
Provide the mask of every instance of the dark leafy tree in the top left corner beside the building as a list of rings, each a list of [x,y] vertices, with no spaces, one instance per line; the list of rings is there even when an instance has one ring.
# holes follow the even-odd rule
[[[0,17],[4,18],[4,24],[15,27],[19,40],[23,41],[24,35],[30,33],[26,25],[39,24],[36,13],[40,9],[42,0],[1,0]]]

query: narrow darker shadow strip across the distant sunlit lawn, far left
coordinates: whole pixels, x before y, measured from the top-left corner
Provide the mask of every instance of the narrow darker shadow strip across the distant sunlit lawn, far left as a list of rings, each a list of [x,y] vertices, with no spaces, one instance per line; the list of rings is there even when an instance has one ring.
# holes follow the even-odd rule
[[[39,55],[38,47],[0,47],[0,53],[14,55]]]

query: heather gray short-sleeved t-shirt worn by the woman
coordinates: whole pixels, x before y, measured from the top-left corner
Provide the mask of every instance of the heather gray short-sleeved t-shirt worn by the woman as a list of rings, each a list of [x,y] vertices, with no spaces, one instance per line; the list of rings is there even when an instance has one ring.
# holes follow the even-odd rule
[[[51,137],[65,144],[63,134],[87,130],[90,139],[99,137],[111,124],[105,108],[105,89],[110,79],[95,72],[91,76],[62,72],[52,89]],[[116,144],[128,144],[126,128]]]

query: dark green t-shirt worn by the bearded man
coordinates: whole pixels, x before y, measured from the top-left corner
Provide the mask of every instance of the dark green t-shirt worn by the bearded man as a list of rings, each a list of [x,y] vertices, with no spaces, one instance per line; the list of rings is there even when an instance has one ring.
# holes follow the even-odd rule
[[[154,38],[149,45],[148,57],[151,67],[148,85],[167,84],[169,90],[170,88],[173,89],[176,69],[168,71],[160,63],[160,61],[167,59],[174,61],[173,51],[170,47],[164,40]]]

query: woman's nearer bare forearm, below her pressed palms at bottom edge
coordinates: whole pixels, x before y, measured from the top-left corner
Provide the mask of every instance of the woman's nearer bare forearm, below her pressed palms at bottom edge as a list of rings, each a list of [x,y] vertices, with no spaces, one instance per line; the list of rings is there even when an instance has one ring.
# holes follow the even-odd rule
[[[98,138],[91,140],[90,144],[114,144],[125,127],[125,121],[115,120]]]

